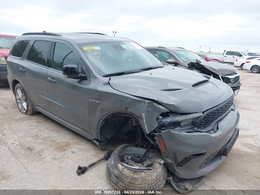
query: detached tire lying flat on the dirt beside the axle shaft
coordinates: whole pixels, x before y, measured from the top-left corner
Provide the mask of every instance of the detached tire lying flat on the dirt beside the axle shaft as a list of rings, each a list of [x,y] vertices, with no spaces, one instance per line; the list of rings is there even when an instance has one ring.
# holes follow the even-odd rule
[[[167,168],[164,164],[153,163],[151,169],[130,170],[121,164],[119,154],[128,147],[123,144],[116,148],[106,165],[106,176],[112,186],[121,190],[160,190],[166,183]]]

